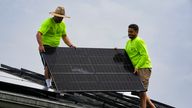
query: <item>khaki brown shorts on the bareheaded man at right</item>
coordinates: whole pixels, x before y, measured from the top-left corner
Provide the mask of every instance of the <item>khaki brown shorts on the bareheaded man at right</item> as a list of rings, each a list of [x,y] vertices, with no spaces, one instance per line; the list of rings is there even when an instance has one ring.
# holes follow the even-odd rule
[[[149,86],[149,78],[151,76],[151,68],[142,68],[139,69],[137,75],[140,77],[140,80],[143,83],[145,91],[147,91]]]

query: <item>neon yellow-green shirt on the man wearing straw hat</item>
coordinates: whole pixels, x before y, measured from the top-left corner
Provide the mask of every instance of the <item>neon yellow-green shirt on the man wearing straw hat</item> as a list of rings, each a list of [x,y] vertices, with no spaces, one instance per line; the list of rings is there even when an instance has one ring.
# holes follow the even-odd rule
[[[43,45],[58,47],[62,36],[66,34],[64,22],[56,23],[53,18],[46,19],[38,30],[42,33]]]

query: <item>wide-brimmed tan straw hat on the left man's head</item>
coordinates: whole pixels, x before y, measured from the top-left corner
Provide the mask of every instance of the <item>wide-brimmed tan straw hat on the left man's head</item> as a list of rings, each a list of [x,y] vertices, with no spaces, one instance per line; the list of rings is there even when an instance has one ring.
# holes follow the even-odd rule
[[[57,17],[70,18],[69,16],[65,16],[65,9],[61,6],[58,6],[54,12],[49,12],[49,14]]]

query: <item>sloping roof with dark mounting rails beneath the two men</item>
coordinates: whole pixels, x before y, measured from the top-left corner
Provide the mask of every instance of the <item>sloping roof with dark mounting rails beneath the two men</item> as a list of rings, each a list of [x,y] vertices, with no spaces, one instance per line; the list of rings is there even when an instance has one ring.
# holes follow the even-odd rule
[[[0,107],[14,108],[139,108],[139,99],[118,92],[59,93],[44,86],[44,77],[37,72],[1,64]],[[2,74],[1,74],[2,75]],[[19,79],[20,78],[20,79]],[[9,81],[8,81],[9,80]],[[27,84],[28,83],[28,84]],[[29,86],[31,85],[31,86]],[[157,108],[173,106],[152,100]]]

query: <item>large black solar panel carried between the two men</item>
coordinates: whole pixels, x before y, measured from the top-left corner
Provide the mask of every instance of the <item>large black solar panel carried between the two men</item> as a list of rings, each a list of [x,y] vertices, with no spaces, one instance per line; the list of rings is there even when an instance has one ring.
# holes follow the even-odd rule
[[[144,90],[123,49],[58,47],[43,57],[60,92]]]

